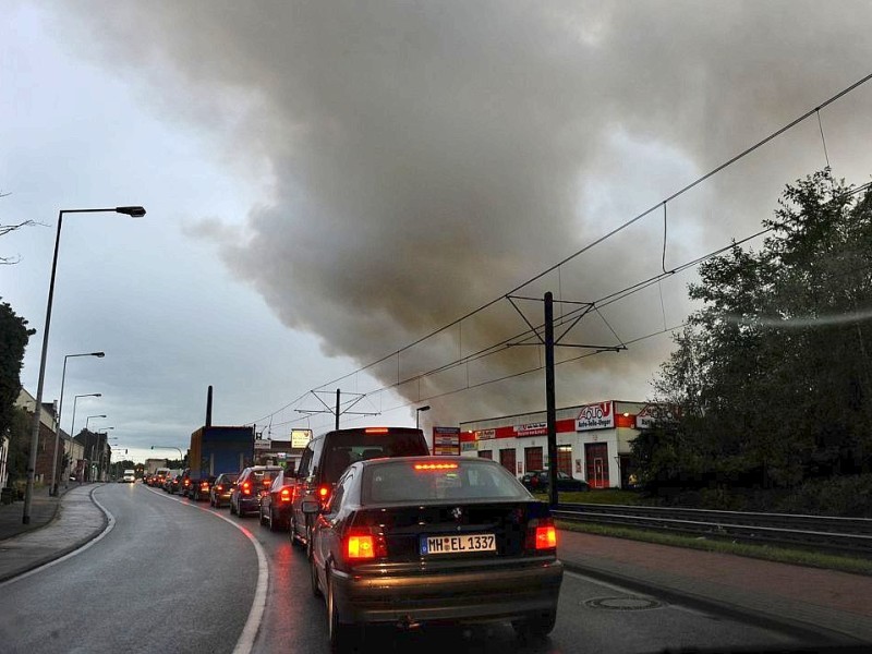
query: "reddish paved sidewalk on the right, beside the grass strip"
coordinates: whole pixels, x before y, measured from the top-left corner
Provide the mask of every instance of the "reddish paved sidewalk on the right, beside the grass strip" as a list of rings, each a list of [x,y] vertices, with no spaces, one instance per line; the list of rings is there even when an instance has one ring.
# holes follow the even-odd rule
[[[567,570],[839,644],[872,643],[872,578],[560,531]],[[819,635],[820,638],[820,635]]]

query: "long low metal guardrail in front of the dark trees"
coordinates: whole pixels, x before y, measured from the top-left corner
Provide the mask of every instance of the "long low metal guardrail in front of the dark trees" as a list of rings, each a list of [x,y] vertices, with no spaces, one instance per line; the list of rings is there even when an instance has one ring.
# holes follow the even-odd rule
[[[872,519],[564,504],[558,520],[680,532],[720,540],[872,556]]]

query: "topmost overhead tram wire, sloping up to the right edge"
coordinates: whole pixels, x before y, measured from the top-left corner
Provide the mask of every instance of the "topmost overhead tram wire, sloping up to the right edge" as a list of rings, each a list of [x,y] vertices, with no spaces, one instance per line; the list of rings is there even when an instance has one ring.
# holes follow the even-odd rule
[[[407,346],[403,346],[402,348],[400,348],[400,349],[398,349],[398,350],[396,350],[393,352],[390,352],[390,353],[382,356],[380,359],[371,362],[370,364],[367,364],[367,365],[365,365],[363,367],[360,367],[360,368],[358,368],[355,371],[352,371],[352,372],[350,372],[350,373],[348,373],[346,375],[337,377],[336,379],[332,379],[330,382],[322,384],[320,386],[317,386],[312,390],[320,390],[320,389],[324,389],[324,388],[326,388],[328,386],[335,386],[336,384],[339,384],[339,383],[343,382],[344,379],[348,379],[349,377],[351,377],[353,375],[356,375],[358,373],[365,372],[365,371],[367,371],[367,370],[370,370],[370,368],[372,368],[372,367],[374,367],[374,366],[376,366],[376,365],[378,365],[380,363],[384,363],[385,361],[388,361],[392,356],[399,356],[402,352],[404,352],[407,350],[410,350],[411,348],[414,348],[415,346],[424,342],[425,340],[428,340],[428,339],[433,338],[434,336],[437,336],[438,334],[441,334],[443,331],[445,331],[447,329],[450,329],[451,327],[458,325],[459,323],[462,323],[463,320],[474,316],[475,314],[481,313],[482,311],[485,311],[486,308],[489,308],[491,306],[494,306],[495,304],[497,304],[501,300],[506,299],[508,295],[520,291],[521,289],[530,286],[534,281],[537,281],[537,280],[542,279],[543,277],[545,277],[546,275],[553,272],[554,270],[559,269],[560,267],[565,266],[569,262],[573,261],[574,258],[579,257],[580,255],[584,254],[585,252],[592,250],[596,245],[600,245],[601,243],[603,243],[603,242],[607,241],[608,239],[615,237],[616,234],[620,233],[621,231],[623,231],[628,227],[634,225],[639,220],[641,220],[641,219],[645,218],[646,216],[651,215],[658,207],[661,207],[661,206],[665,205],[666,203],[669,203],[669,202],[680,197],[681,195],[683,195],[685,193],[687,193],[691,189],[694,189],[695,186],[698,186],[702,182],[706,181],[707,179],[712,178],[713,175],[717,174],[718,172],[725,170],[726,168],[729,168],[730,166],[732,166],[737,161],[743,159],[744,157],[747,157],[748,155],[750,155],[753,152],[758,150],[759,148],[763,147],[764,145],[766,145],[771,141],[777,138],[778,136],[780,136],[785,132],[791,130],[792,128],[795,128],[799,123],[803,122],[810,116],[820,114],[819,112],[821,111],[821,109],[824,109],[824,108],[828,107],[829,105],[832,105],[836,100],[838,100],[841,97],[846,96],[847,94],[851,93],[856,88],[862,86],[863,84],[865,84],[870,80],[872,80],[872,73],[865,75],[864,77],[862,77],[861,80],[855,82],[850,86],[847,86],[846,88],[841,89],[837,94],[831,96],[828,99],[826,99],[825,101],[821,102],[815,108],[807,111],[806,113],[803,113],[799,118],[790,121],[789,123],[787,123],[783,128],[780,128],[780,129],[776,130],[775,132],[771,133],[768,136],[762,138],[761,141],[756,142],[752,146],[750,146],[750,147],[746,148],[744,150],[742,150],[741,153],[735,155],[734,157],[731,157],[730,159],[728,159],[724,164],[720,164],[719,166],[715,167],[714,169],[712,169],[707,173],[705,173],[702,177],[695,179],[694,181],[692,181],[691,183],[687,184],[682,189],[676,191],[675,193],[673,193],[671,195],[669,195],[665,199],[658,202],[657,204],[653,205],[649,209],[645,209],[644,211],[642,211],[641,214],[639,214],[639,215],[634,216],[633,218],[627,220],[626,222],[617,226],[616,228],[614,228],[613,230],[606,232],[605,234],[603,234],[598,239],[592,241],[591,243],[584,245],[580,250],[578,250],[574,253],[570,254],[569,256],[565,257],[564,259],[561,259],[557,264],[554,264],[553,266],[546,268],[542,272],[535,275],[534,277],[532,277],[532,278],[528,279],[526,281],[522,282],[521,284],[514,287],[512,290],[508,291],[507,293],[505,293],[505,294],[502,294],[502,295],[500,295],[498,298],[495,298],[495,299],[482,304],[480,307],[465,313],[461,317],[451,320],[450,323],[444,325],[443,327],[439,327],[438,329],[435,329],[435,330],[426,334],[425,336],[422,336],[421,338],[412,341],[411,343],[409,343]],[[296,401],[299,401],[299,400],[296,400]],[[292,402],[291,404],[293,404],[293,403],[294,402]]]

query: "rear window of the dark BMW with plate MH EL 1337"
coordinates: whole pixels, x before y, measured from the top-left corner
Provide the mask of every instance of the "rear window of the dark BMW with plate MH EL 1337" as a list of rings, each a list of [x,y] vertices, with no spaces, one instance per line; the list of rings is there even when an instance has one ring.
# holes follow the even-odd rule
[[[516,500],[530,494],[501,465],[476,459],[386,461],[366,467],[363,504],[440,500]]]

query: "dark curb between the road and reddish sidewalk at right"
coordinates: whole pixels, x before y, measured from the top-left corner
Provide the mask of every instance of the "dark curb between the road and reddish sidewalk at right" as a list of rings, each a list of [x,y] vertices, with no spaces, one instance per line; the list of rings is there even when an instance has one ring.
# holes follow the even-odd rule
[[[583,574],[584,577],[590,577],[591,579],[595,579],[597,581],[604,581],[606,583],[623,586],[628,590],[645,595],[662,597],[669,604],[680,604],[685,606],[689,605],[705,613],[725,615],[727,617],[753,625],[755,627],[761,627],[763,629],[780,631],[792,637],[800,635],[800,638],[815,646],[845,646],[858,645],[861,643],[864,645],[869,644],[867,641],[863,641],[857,637],[844,633],[841,631],[836,631],[828,627],[810,625],[809,622],[800,622],[783,616],[761,613],[740,604],[727,602],[725,600],[718,600],[717,597],[713,597],[711,595],[700,595],[695,593],[689,593],[687,591],[679,591],[673,588],[657,585],[643,579],[628,577],[617,572],[605,571],[596,567],[588,567],[574,561],[567,561],[565,559],[560,560],[564,564],[564,568],[570,572]]]

